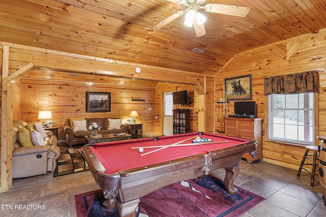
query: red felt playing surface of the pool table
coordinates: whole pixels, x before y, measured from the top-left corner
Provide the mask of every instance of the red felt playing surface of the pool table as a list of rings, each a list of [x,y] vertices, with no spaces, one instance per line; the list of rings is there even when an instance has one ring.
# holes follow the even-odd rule
[[[151,164],[194,156],[195,154],[206,154],[209,151],[232,147],[249,141],[247,139],[205,133],[204,135],[200,135],[200,137],[211,139],[214,142],[227,142],[215,144],[207,143],[203,145],[193,146],[168,147],[162,150],[146,154],[144,156],[141,156],[142,153],[139,152],[138,148],[131,149],[131,147],[140,146],[171,145],[195,136],[198,136],[198,133],[162,136],[159,137],[159,140],[156,141],[154,141],[153,138],[146,138],[117,142],[105,142],[97,143],[95,144],[95,147],[90,147],[90,149],[93,151],[96,158],[101,162],[102,166],[105,168],[105,173],[111,174],[122,170],[146,167]],[[192,143],[192,140],[193,139],[190,139],[179,144]],[[158,148],[144,148],[143,153],[155,149]]]

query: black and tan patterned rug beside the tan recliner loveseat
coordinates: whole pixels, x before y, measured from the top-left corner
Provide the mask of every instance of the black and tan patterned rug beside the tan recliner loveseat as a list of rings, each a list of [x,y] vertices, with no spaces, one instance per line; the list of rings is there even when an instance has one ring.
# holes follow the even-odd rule
[[[82,148],[60,148],[60,157],[53,177],[89,170]]]

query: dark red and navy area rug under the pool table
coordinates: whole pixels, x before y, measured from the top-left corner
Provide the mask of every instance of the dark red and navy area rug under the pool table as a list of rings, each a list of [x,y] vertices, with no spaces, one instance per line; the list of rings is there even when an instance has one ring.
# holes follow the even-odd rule
[[[240,187],[235,195],[225,191],[221,179],[205,176],[170,184],[140,198],[136,216],[165,217],[235,217],[240,216],[265,200]],[[118,216],[116,209],[105,209],[101,190],[75,196],[78,217]]]

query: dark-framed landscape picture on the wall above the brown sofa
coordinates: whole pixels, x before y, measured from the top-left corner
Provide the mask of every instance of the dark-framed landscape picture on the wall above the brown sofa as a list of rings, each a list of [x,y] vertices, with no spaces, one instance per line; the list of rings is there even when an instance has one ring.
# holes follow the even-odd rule
[[[86,112],[111,111],[111,92],[86,92]]]

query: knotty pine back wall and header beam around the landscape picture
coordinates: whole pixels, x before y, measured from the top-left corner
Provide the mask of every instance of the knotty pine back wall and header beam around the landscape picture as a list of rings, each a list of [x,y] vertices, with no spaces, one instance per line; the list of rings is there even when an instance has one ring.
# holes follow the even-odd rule
[[[121,61],[114,63],[108,59],[94,59],[26,46],[10,48],[10,73],[29,61],[33,61],[37,70],[16,84],[18,89],[15,88],[14,92],[14,119],[39,121],[38,111],[49,109],[52,111],[52,119],[61,128],[59,140],[65,139],[63,127],[69,117],[110,116],[122,117],[126,121],[131,110],[138,111],[140,117],[137,120],[144,123],[144,133],[152,134],[155,132],[155,88],[158,82],[196,84],[204,80],[204,76],[198,77],[194,73],[185,75],[182,72],[184,79],[180,81],[181,72],[176,70],[169,72],[166,69],[142,65],[142,72],[137,74],[134,73],[135,66]],[[47,70],[44,71],[43,68]],[[98,76],[94,76],[95,73]],[[70,77],[69,74],[78,77]],[[105,76],[106,74],[111,77]],[[92,86],[89,85],[90,82]],[[85,113],[86,91],[111,92],[112,112]]]

